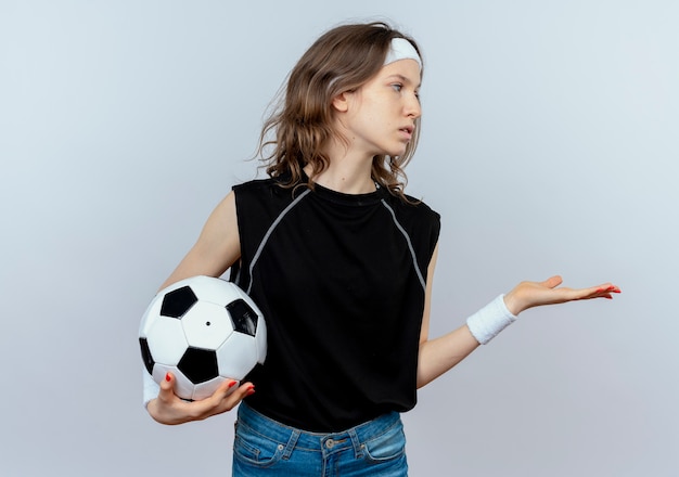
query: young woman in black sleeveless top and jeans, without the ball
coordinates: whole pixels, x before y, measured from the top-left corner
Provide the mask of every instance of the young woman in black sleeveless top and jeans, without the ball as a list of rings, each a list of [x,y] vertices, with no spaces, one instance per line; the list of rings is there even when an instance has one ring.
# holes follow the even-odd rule
[[[187,402],[145,376],[164,424],[239,405],[233,475],[407,475],[400,412],[523,310],[619,289],[523,282],[431,339],[439,216],[405,194],[422,57],[383,23],[344,25],[302,56],[265,124],[268,179],[233,188],[163,286],[231,280],[267,319],[267,361],[233,390]],[[255,392],[256,386],[256,392]]]

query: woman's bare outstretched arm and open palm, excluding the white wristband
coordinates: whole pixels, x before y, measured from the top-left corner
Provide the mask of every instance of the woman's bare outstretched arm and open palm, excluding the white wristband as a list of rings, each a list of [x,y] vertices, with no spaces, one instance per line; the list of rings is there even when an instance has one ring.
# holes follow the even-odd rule
[[[437,255],[438,245],[427,270],[424,317],[420,332],[418,387],[436,379],[479,346],[466,324],[436,339],[428,339],[432,282]],[[591,298],[612,298],[613,293],[620,293],[620,289],[611,283],[580,289],[559,287],[561,283],[562,279],[558,275],[545,282],[521,282],[504,296],[504,305],[512,314],[517,315],[528,308],[542,305]]]

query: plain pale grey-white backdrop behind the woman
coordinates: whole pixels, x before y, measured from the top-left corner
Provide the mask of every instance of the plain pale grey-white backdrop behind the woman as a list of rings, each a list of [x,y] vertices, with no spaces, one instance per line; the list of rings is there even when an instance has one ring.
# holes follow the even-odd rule
[[[679,475],[677,5],[1,0],[0,475],[230,475],[233,414],[142,409],[139,319],[351,20],[424,52],[433,335],[521,280],[623,288],[529,310],[421,390],[411,475]]]

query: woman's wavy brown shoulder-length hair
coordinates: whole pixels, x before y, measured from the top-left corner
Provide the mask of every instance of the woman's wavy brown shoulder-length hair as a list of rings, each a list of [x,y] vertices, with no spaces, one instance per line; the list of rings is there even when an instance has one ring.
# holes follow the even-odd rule
[[[382,22],[337,26],[306,51],[290,73],[284,95],[265,120],[259,137],[258,153],[270,177],[289,177],[284,185],[294,188],[303,183],[302,169],[306,165],[312,166],[313,175],[325,170],[330,159],[323,146],[337,134],[333,128],[333,98],[360,88],[376,75],[393,38],[407,39],[420,54],[413,39]],[[417,149],[419,131],[417,118],[413,137],[402,155],[377,155],[372,162],[372,179],[403,199],[403,168]]]

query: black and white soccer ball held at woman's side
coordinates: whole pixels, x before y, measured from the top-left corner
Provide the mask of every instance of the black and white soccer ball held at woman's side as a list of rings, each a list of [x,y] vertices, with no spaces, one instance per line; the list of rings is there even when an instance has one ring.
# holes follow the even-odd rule
[[[192,276],[162,289],[139,328],[141,357],[156,383],[171,372],[175,394],[197,400],[240,382],[267,354],[261,311],[234,283]],[[235,387],[233,387],[235,389]]]

